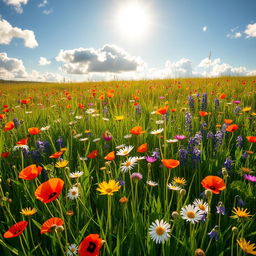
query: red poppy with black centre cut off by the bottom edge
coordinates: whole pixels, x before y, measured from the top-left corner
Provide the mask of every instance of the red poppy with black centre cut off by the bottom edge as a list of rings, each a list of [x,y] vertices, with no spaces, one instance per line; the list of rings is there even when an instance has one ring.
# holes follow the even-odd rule
[[[90,234],[84,238],[78,248],[79,256],[98,256],[102,246],[102,239],[98,234]]]

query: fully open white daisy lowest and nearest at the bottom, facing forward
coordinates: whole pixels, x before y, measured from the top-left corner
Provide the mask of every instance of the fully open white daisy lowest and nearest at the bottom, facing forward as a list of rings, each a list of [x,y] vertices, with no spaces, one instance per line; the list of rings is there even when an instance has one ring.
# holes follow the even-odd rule
[[[164,220],[156,220],[149,227],[149,235],[157,244],[164,243],[170,237],[168,234],[171,232],[170,227],[170,224]]]

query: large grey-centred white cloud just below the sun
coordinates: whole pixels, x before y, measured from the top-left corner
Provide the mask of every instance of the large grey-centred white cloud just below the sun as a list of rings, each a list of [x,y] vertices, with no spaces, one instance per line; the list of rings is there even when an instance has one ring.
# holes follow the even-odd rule
[[[130,72],[145,66],[140,57],[131,56],[123,49],[108,44],[98,50],[94,48],[60,50],[56,60],[64,63],[62,70],[68,74]]]

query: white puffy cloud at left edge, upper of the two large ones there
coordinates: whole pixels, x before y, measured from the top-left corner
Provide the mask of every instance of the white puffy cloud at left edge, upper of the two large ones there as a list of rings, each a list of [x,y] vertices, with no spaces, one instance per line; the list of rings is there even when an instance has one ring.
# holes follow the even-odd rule
[[[7,20],[0,19],[0,44],[9,44],[14,37],[23,39],[28,48],[38,46],[32,30],[13,27]]]

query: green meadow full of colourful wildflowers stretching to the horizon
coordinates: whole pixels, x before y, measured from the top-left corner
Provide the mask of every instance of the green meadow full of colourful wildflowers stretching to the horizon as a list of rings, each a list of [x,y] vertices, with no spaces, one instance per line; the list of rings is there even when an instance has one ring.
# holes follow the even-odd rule
[[[256,255],[255,92],[0,84],[0,255]]]

